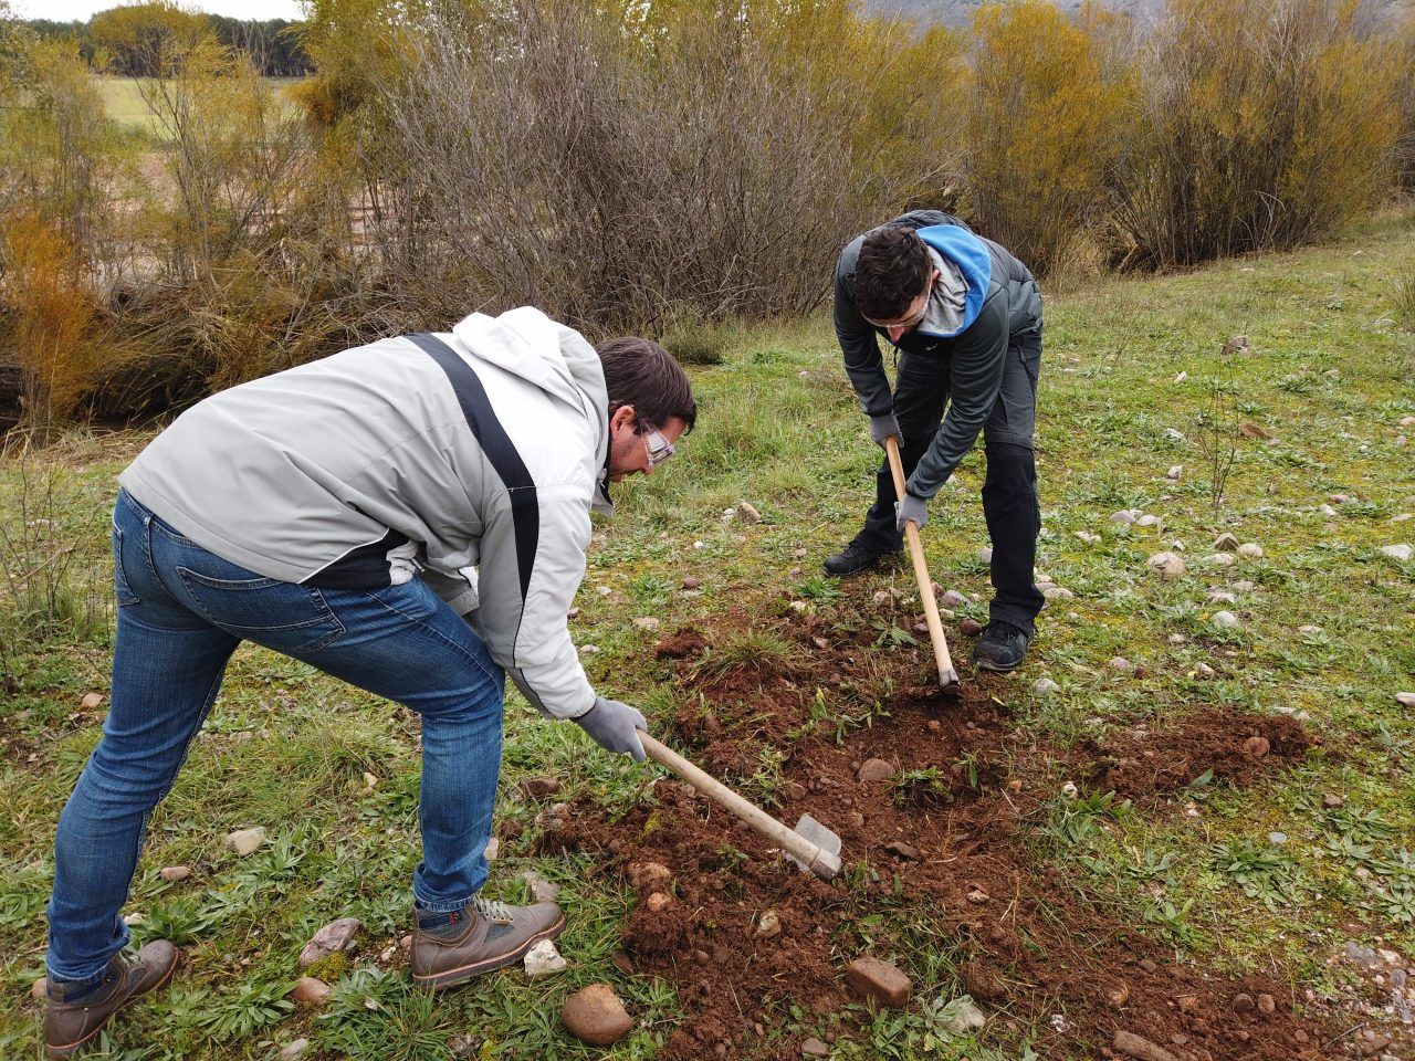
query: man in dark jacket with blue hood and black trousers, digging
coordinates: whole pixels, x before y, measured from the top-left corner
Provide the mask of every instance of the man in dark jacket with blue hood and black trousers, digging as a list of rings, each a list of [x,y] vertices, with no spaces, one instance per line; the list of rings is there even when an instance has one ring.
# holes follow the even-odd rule
[[[825,570],[853,574],[897,552],[904,523],[928,522],[928,501],[982,433],[995,596],[974,661],[1012,671],[1027,652],[1043,604],[1033,581],[1041,528],[1033,458],[1041,371],[1036,280],[958,218],[914,211],[857,236],[841,253],[835,332],[870,417],[870,437],[880,446],[890,436],[899,440],[907,482],[896,498],[889,461],[880,465],[865,526],[826,559]],[[900,352],[893,395],[877,335]]]

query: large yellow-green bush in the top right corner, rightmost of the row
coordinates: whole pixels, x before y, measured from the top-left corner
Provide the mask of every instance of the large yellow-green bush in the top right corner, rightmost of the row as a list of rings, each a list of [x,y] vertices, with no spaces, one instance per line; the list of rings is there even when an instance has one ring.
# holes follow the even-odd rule
[[[1390,187],[1397,72],[1356,3],[1172,0],[1138,62],[1114,171],[1135,263],[1289,248]]]

